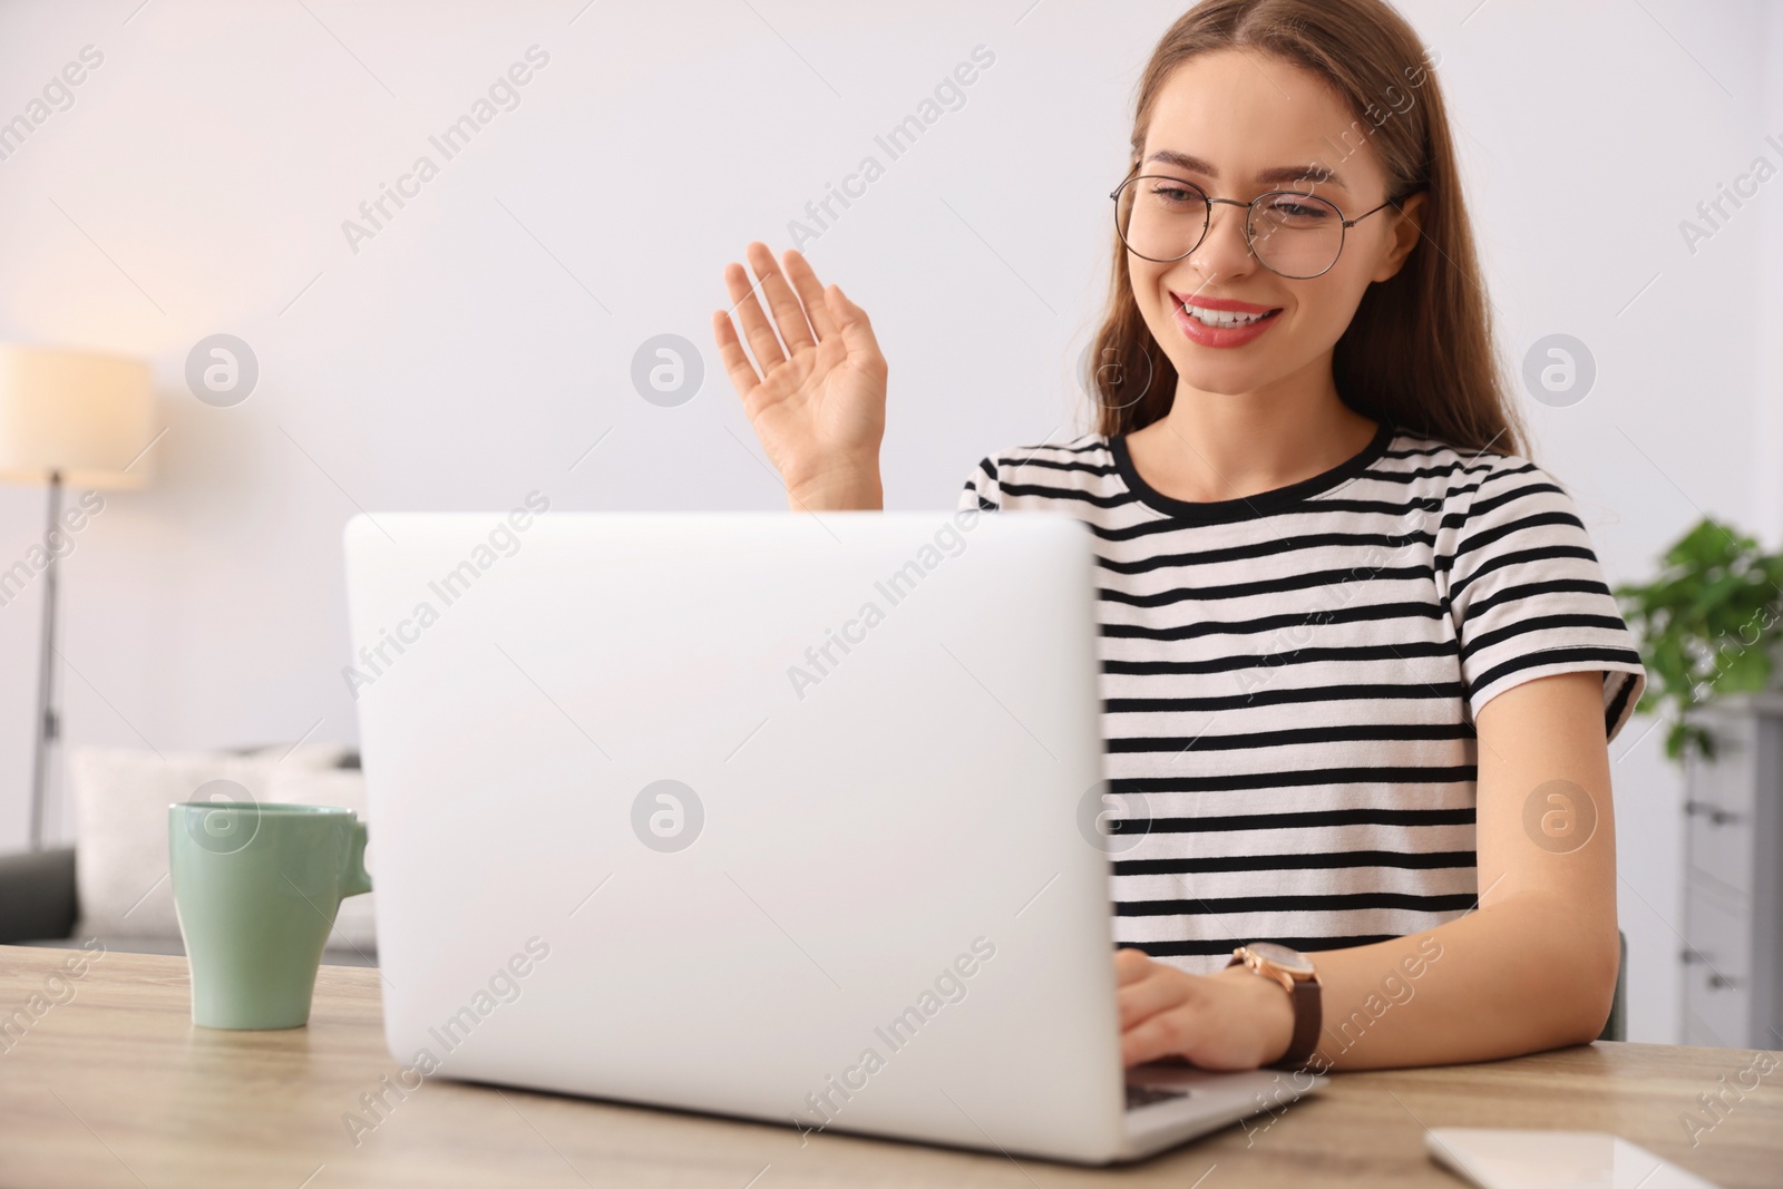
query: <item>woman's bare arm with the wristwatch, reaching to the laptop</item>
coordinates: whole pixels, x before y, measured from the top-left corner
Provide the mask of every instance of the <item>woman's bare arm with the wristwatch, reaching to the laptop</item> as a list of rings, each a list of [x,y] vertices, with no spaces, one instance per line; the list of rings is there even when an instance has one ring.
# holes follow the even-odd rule
[[[1619,947],[1603,674],[1505,690],[1476,729],[1480,906],[1407,938],[1312,954],[1323,984],[1316,1070],[1583,1045],[1608,1018]],[[1253,1068],[1287,1050],[1293,1009],[1268,979],[1243,968],[1186,975],[1134,950],[1118,970],[1129,1064],[1182,1054]]]

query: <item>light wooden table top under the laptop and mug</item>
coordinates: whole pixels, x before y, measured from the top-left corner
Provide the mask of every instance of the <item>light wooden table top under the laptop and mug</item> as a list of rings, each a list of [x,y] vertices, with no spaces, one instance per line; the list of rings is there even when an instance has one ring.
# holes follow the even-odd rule
[[[401,1068],[378,977],[323,966],[307,1029],[214,1032],[189,1016],[185,959],[103,954],[48,984],[70,950],[0,947],[0,1185],[1446,1185],[1425,1127],[1624,1136],[1726,1189],[1783,1185],[1783,1066],[1692,1148],[1681,1116],[1753,1054],[1590,1045],[1519,1061],[1335,1075],[1330,1086],[1123,1169],[811,1136],[606,1102],[430,1078],[353,1136],[348,1111]],[[30,996],[43,995],[30,1014]],[[62,1002],[52,1004],[50,1000]],[[1731,1096],[1730,1096],[1731,1102]],[[1209,1169],[1212,1169],[1209,1173]],[[1205,1180],[1202,1180],[1205,1177]]]

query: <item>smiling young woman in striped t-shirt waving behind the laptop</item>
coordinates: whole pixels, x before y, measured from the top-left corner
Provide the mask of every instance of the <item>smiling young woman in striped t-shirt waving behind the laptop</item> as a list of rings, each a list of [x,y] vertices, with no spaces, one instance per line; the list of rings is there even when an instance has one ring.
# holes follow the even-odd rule
[[[1380,0],[1182,16],[1114,194],[1097,431],[966,481],[1095,535],[1107,775],[1148,818],[1114,836],[1129,1064],[1483,1061],[1610,1011],[1606,743],[1646,674],[1523,446],[1430,68]],[[879,508],[865,310],[747,258],[754,364],[713,332],[790,506]]]

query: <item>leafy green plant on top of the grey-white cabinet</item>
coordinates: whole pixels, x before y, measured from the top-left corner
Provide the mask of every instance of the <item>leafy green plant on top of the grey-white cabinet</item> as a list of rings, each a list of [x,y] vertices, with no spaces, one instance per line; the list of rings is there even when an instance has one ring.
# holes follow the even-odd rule
[[[1783,638],[1783,554],[1703,519],[1665,551],[1658,576],[1615,588],[1640,640],[1647,688],[1635,713],[1671,720],[1665,754],[1713,758],[1715,740],[1690,711],[1728,693],[1771,686]]]

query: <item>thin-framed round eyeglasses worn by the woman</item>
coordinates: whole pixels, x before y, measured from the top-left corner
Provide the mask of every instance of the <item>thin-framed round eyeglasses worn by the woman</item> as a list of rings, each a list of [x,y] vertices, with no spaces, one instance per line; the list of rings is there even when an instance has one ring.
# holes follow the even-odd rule
[[[1159,264],[1180,260],[1207,239],[1214,203],[1245,207],[1245,241],[1252,255],[1262,267],[1293,280],[1330,271],[1343,251],[1344,232],[1398,201],[1389,198],[1346,219],[1335,203],[1303,191],[1269,191],[1246,203],[1209,198],[1193,182],[1150,173],[1127,178],[1109,198],[1114,200],[1114,230],[1127,251]]]

